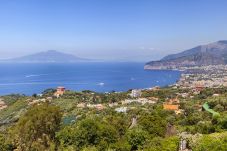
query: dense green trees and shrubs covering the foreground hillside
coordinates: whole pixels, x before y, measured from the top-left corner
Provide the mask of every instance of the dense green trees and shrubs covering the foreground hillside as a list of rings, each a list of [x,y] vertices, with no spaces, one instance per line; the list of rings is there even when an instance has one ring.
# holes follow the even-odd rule
[[[200,93],[179,88],[144,90],[141,97],[158,98],[145,105],[122,104],[131,98],[130,92],[66,91],[56,98],[54,91],[48,89],[43,96],[1,97],[8,105],[0,110],[1,151],[177,151],[183,132],[187,148],[193,151],[227,148],[227,88]],[[186,97],[181,95],[184,93]],[[163,102],[176,97],[183,112],[163,110]],[[42,99],[45,101],[29,105]],[[219,114],[203,110],[206,102]],[[79,107],[80,103],[101,103],[105,108]],[[113,103],[118,104],[109,107]],[[118,107],[127,107],[127,112],[116,112]]]

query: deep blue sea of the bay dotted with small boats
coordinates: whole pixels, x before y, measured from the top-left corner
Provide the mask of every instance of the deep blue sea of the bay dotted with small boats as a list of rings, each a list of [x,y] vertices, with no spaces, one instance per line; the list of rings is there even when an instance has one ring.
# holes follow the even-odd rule
[[[143,63],[0,64],[0,95],[32,95],[48,88],[127,91],[175,83],[179,71],[144,70]]]

